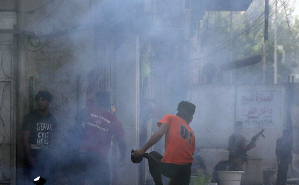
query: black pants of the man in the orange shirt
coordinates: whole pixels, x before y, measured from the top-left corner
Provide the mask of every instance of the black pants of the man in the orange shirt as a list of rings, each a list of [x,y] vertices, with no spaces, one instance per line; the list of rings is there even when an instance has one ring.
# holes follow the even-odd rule
[[[156,185],[162,185],[162,177],[164,175],[173,179],[174,184],[189,185],[191,176],[192,163],[188,164],[171,164],[163,163],[163,156],[158,152],[150,152],[146,158],[149,161],[149,170]]]

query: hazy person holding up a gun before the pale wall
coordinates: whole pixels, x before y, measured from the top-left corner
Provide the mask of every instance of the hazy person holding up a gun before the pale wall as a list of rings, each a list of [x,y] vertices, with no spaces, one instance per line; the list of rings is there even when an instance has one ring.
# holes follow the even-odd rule
[[[229,161],[236,171],[243,171],[243,164],[247,162],[246,152],[255,147],[255,143],[246,145],[243,133],[242,121],[235,122],[235,133],[229,137],[228,152]]]

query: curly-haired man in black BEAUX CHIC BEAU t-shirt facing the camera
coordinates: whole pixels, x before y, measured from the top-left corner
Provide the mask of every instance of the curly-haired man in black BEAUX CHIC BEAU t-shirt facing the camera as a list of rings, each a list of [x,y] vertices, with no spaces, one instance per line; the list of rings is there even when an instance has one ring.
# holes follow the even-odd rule
[[[46,180],[50,177],[49,149],[53,140],[57,121],[48,112],[53,96],[48,91],[39,91],[36,96],[37,109],[29,112],[23,119],[23,141],[25,148],[24,173],[32,182],[34,178],[42,176]]]

